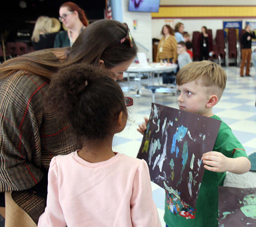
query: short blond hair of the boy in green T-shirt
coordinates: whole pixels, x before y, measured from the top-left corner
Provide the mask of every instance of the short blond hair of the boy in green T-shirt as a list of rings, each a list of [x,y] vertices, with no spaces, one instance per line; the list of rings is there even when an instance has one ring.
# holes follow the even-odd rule
[[[217,95],[220,100],[226,87],[227,75],[224,69],[211,61],[191,62],[183,66],[176,76],[178,86],[194,81],[207,87],[210,95]]]

